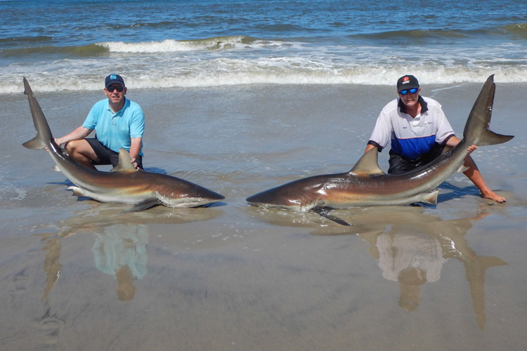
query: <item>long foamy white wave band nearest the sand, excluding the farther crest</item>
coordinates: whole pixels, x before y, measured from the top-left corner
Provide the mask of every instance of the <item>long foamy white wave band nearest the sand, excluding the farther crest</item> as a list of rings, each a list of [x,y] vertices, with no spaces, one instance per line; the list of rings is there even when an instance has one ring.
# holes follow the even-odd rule
[[[359,84],[391,86],[403,74],[414,74],[422,84],[481,83],[495,74],[497,83],[527,83],[525,65],[364,65],[349,62],[329,63],[316,58],[215,58],[198,62],[162,61],[152,65],[124,62],[86,61],[86,66],[65,60],[60,67],[35,65],[30,72],[20,67],[1,72],[0,94],[22,93],[22,77],[34,91],[96,91],[103,88],[108,72],[123,75],[129,88],[190,88],[245,84]],[[112,65],[110,66],[110,63]],[[53,65],[58,65],[54,62]],[[58,73],[57,73],[58,72]]]

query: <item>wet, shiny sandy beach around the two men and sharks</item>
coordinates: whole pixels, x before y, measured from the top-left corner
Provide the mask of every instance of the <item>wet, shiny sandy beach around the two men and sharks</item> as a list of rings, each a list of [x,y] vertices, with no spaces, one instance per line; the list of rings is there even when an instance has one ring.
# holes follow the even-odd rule
[[[480,88],[422,95],[461,138]],[[35,133],[25,95],[1,96],[0,349],[523,350],[526,88],[497,82],[490,128],[515,138],[472,154],[506,204],[454,173],[437,206],[332,213],[351,227],[245,198],[348,171],[391,86],[130,87],[147,171],[226,199],[124,214],[72,196],[44,150],[22,147]],[[35,93],[56,136],[103,98]]]

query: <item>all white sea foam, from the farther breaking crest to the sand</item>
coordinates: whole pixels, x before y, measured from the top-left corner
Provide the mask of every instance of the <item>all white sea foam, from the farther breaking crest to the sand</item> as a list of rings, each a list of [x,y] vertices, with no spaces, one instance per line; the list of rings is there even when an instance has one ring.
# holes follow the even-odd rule
[[[370,59],[365,49],[357,57],[306,53],[294,43],[279,43],[280,50],[269,50],[270,42],[250,41],[243,37],[228,37],[238,46],[233,50],[204,51],[213,39],[199,44],[162,41],[148,44],[123,44],[119,53],[110,58],[64,59],[39,62],[27,67],[11,65],[0,67],[2,84],[0,94],[22,93],[22,77],[27,77],[36,92],[69,90],[96,91],[103,88],[108,72],[123,75],[129,88],[232,86],[242,84],[365,84],[393,85],[403,74],[411,72],[422,84],[481,83],[495,74],[497,83],[526,83],[527,65],[522,62],[508,64],[507,60],[480,62],[471,58],[453,60],[431,58],[411,62],[395,55],[386,55],[385,48],[370,48]],[[216,41],[217,44],[217,41]],[[119,43],[112,46],[119,47]],[[230,45],[230,44],[229,44]],[[252,45],[247,49],[245,45]],[[300,44],[297,44],[300,45]],[[161,46],[161,48],[160,48]],[[170,53],[173,46],[177,53]],[[188,52],[181,53],[187,46]],[[257,48],[256,48],[257,47]],[[124,53],[127,48],[134,53]],[[161,54],[152,51],[162,50]],[[138,53],[143,50],[145,53]],[[191,51],[196,50],[196,51]],[[337,50],[337,48],[334,48]],[[257,52],[256,52],[257,51]],[[457,62],[460,61],[460,62]]]

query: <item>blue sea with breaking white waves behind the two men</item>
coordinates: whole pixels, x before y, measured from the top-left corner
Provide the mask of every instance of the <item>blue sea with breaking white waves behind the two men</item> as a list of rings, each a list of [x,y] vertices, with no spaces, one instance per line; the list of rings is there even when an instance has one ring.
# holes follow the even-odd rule
[[[527,81],[523,0],[0,1],[0,94]]]

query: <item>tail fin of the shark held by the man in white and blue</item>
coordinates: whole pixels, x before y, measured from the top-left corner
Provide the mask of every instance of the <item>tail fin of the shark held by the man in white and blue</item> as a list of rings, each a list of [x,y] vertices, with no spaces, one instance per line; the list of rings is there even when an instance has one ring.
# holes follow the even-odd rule
[[[495,145],[505,143],[513,135],[501,135],[490,131],[490,117],[494,102],[494,74],[488,77],[464,126],[463,138],[468,145]]]

